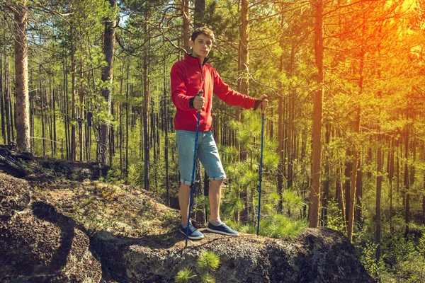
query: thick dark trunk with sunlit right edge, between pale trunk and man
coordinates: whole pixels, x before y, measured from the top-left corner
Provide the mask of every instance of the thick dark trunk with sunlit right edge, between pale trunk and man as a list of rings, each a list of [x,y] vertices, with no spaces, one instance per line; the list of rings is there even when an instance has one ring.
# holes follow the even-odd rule
[[[111,8],[113,8],[116,4],[115,0],[107,0]],[[108,114],[108,120],[103,122],[101,125],[101,140],[100,146],[101,156],[100,161],[101,164],[106,165],[108,161],[109,152],[109,139],[111,133],[111,120],[109,119],[111,115],[111,107],[112,107],[112,89],[113,89],[113,57],[115,53],[115,18],[106,18],[105,19],[105,30],[103,33],[103,54],[105,54],[106,63],[108,64],[106,67],[102,69],[102,81],[108,82],[108,87],[102,89],[102,96],[106,101],[106,111]]]

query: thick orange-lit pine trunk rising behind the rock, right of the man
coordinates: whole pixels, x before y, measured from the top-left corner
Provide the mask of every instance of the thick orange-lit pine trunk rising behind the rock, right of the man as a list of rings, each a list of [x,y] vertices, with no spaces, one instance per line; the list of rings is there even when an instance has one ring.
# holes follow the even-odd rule
[[[313,139],[312,139],[312,187],[310,190],[310,228],[319,226],[320,182],[322,167],[322,112],[323,112],[323,1],[315,1],[316,23],[314,26],[314,54],[317,67],[317,91],[314,93]]]

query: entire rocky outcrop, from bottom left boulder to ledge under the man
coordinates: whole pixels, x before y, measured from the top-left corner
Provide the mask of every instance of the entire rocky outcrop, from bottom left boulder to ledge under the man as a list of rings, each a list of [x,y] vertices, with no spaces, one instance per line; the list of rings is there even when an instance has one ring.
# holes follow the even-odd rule
[[[220,256],[220,283],[373,282],[353,245],[331,229],[291,240],[201,229],[205,238],[185,248],[178,212],[149,192],[27,180],[0,173],[0,282],[174,282],[185,267],[198,272],[205,250]]]

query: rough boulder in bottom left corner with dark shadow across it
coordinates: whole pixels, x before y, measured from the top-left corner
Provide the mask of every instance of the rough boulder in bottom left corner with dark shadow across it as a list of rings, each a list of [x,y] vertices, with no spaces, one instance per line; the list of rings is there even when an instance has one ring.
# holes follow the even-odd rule
[[[89,237],[25,180],[0,173],[0,282],[99,282]]]

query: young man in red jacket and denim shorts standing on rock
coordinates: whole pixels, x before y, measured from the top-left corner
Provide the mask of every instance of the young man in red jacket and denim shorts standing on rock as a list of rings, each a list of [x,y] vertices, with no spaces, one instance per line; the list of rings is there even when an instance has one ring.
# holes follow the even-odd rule
[[[200,110],[197,156],[210,177],[210,223],[208,231],[228,236],[238,236],[239,233],[230,229],[220,220],[220,198],[223,180],[226,178],[217,145],[212,137],[212,94],[225,103],[242,106],[242,108],[261,108],[268,106],[267,96],[259,99],[251,98],[233,91],[222,82],[220,75],[207,64],[207,56],[212,48],[214,34],[208,28],[198,28],[191,36],[192,53],[176,62],[171,68],[171,100],[176,106],[174,128],[176,129],[176,144],[179,154],[179,171],[181,175],[179,187],[179,204],[181,209],[180,231],[186,235],[188,223],[189,198],[193,169],[193,151],[195,149],[196,124]],[[203,96],[197,94],[203,91]],[[188,238],[199,240],[203,238],[191,222],[189,222]]]

